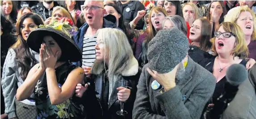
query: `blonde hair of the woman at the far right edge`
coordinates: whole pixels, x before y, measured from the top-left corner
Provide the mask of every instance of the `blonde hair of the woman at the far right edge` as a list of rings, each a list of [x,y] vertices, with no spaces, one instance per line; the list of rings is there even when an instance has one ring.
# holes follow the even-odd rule
[[[225,22],[235,22],[236,23],[241,12],[250,12],[252,14],[253,31],[252,31],[251,40],[254,41],[254,40],[256,40],[256,16],[255,16],[254,12],[250,8],[248,8],[247,5],[245,5],[243,7],[232,8],[228,12],[228,14],[225,16],[224,21]]]

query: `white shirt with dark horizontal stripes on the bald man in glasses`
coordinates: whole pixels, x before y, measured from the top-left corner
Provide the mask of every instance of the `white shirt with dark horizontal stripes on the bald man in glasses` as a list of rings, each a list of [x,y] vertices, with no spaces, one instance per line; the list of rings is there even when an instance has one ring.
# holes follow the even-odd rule
[[[96,59],[96,53],[95,53],[95,45],[97,34],[93,36],[88,36],[84,34],[84,40],[83,40],[83,66],[92,66]]]

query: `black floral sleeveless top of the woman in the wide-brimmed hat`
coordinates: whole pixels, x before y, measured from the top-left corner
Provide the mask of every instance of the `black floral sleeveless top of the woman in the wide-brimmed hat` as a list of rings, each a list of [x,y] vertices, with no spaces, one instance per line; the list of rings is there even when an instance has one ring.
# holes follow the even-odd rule
[[[66,81],[68,74],[77,67],[66,62],[55,69],[59,88]],[[35,101],[38,114],[37,119],[83,119],[84,106],[75,94],[59,105],[52,105],[50,103],[46,74],[38,80],[35,86]]]

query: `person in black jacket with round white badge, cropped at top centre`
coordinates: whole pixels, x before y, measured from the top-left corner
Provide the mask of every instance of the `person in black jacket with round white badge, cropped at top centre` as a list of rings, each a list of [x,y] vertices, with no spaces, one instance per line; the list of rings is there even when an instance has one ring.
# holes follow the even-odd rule
[[[137,0],[119,0],[118,7],[122,10],[124,21],[130,23],[137,16],[138,11],[144,9],[144,5]],[[143,29],[144,21],[141,19],[138,21],[135,29]]]

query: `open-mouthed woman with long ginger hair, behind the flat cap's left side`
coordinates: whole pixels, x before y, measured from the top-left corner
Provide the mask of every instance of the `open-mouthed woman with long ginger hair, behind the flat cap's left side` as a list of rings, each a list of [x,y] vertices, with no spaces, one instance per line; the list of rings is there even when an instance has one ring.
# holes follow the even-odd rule
[[[143,33],[139,38],[136,45],[135,57],[139,62],[139,66],[144,66],[147,61],[147,45],[156,33],[163,29],[164,17],[168,16],[166,10],[162,7],[154,7],[150,10],[148,18],[148,30]]]

